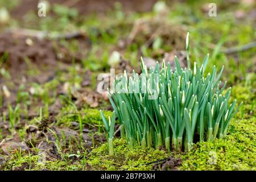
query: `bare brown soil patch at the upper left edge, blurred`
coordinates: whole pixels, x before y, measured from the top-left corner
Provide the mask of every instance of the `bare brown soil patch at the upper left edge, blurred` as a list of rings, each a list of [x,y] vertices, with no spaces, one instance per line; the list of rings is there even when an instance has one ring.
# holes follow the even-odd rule
[[[24,31],[24,30],[23,30]],[[26,31],[26,30],[25,30]],[[66,39],[67,41],[77,40],[81,50],[89,49],[90,40],[85,35],[74,36],[69,40],[67,35],[59,39]],[[72,53],[68,48],[61,46],[59,39],[48,40],[46,38],[39,39],[31,36],[24,36],[19,34],[19,30],[13,32],[3,32],[0,34],[0,57],[7,52],[7,63],[2,66],[7,67],[12,73],[17,73],[17,70],[22,71],[26,69],[28,64],[25,61],[28,58],[31,63],[41,67],[42,65],[54,70],[57,62],[72,63],[72,59],[80,61],[84,55],[81,53]],[[61,56],[60,56],[61,55]]]

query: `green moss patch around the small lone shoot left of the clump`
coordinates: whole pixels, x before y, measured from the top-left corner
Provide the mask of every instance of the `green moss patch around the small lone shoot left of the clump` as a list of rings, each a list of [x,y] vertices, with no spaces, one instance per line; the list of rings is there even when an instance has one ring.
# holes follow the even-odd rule
[[[151,170],[152,164],[148,163],[164,158],[167,158],[164,151],[141,146],[129,150],[125,140],[114,139],[114,156],[109,156],[105,143],[92,150],[87,162],[90,170]]]

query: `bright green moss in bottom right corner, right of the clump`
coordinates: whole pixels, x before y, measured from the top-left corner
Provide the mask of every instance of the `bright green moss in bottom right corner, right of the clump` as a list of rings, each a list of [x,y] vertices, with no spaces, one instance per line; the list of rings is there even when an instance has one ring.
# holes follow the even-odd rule
[[[180,170],[256,170],[256,118],[233,121],[229,135],[200,142],[181,156]]]

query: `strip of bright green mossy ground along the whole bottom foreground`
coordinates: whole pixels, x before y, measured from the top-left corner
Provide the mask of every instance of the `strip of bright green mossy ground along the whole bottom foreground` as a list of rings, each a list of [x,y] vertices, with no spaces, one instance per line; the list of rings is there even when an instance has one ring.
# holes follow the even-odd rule
[[[168,154],[165,150],[143,149],[141,146],[130,150],[126,140],[115,139],[114,156],[109,156],[108,144],[104,143],[94,148],[88,158],[79,157],[76,162],[65,158],[43,163],[42,155],[13,155],[2,169],[152,170],[153,164],[171,155],[176,159],[181,158],[182,164],[177,167],[179,170],[255,170],[255,123],[255,117],[233,121],[225,139],[196,143],[191,151],[182,154]]]

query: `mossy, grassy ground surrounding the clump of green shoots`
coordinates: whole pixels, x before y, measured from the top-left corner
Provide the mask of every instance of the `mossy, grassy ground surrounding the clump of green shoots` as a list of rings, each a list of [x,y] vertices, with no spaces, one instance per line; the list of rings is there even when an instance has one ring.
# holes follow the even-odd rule
[[[56,65],[54,76],[50,75],[43,83],[34,81],[46,74],[36,64],[32,67],[28,65],[30,69],[24,70],[23,76],[31,78],[25,83],[21,76],[16,78],[8,69],[1,68],[1,87],[5,84],[12,95],[6,99],[2,90],[0,92],[0,169],[151,170],[153,164],[171,155],[182,160],[182,164],[177,166],[180,170],[255,170],[256,48],[238,51],[233,55],[225,53],[226,48],[242,46],[255,40],[255,19],[250,17],[253,6],[224,1],[216,3],[218,16],[212,18],[205,11],[205,6],[208,6],[205,1],[188,1],[174,2],[168,11],[162,12],[163,15],[156,9],[147,13],[125,13],[117,6],[104,17],[94,14],[79,16],[74,13],[74,9],[72,14],[67,9],[61,13],[63,7],[53,6],[54,16],[38,19],[30,13],[26,20],[13,19],[10,27],[23,26],[56,34],[83,30],[90,40],[90,46],[81,49],[79,40],[61,40],[61,46],[75,54],[82,52],[82,57],[80,60],[74,59],[69,65]],[[236,11],[243,13],[242,19],[236,17]],[[126,39],[131,36],[138,22],[144,22],[141,24],[143,31],[127,43]],[[159,29],[156,31],[155,27],[159,26],[163,26],[164,30],[168,29],[166,27],[177,27],[177,30],[183,31],[176,34],[179,31],[173,30],[167,34]],[[140,56],[162,60],[165,53],[177,53],[180,51],[177,48],[184,47],[185,41],[175,43],[179,39],[172,37],[175,35],[180,38],[187,31],[191,34],[192,62],[202,62],[203,57],[210,53],[209,69],[216,65],[217,70],[220,70],[225,65],[221,80],[226,80],[227,85],[232,86],[231,100],[243,102],[229,126],[228,136],[212,142],[196,143],[188,152],[168,154],[164,150],[143,149],[139,146],[130,150],[126,141],[119,139],[117,134],[114,156],[109,156],[100,109],[108,116],[112,115],[112,107],[94,92],[98,73],[109,72],[111,67],[115,67],[116,72],[131,68],[138,70]],[[152,34],[156,36],[149,41],[148,36]],[[125,66],[108,63],[113,51],[121,54]],[[84,80],[87,81],[86,86],[82,86]],[[15,110],[17,105],[19,112],[16,112],[14,126],[11,127],[9,106]],[[42,117],[48,118],[45,127],[56,135],[39,131]],[[81,136],[83,144],[80,143]],[[51,143],[51,147],[42,147],[42,140]],[[19,145],[23,142],[27,148],[9,148],[6,154],[2,144],[11,145],[12,142]],[[45,163],[42,161],[42,151],[46,152]]]

